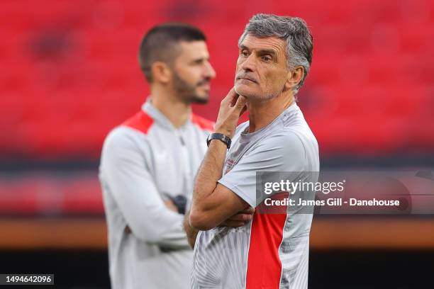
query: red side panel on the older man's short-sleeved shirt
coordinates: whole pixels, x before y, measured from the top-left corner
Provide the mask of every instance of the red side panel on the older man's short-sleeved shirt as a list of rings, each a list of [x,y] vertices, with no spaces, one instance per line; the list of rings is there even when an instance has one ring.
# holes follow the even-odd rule
[[[287,194],[282,194],[279,199],[286,198],[285,196]],[[279,211],[282,212],[282,209],[279,208]],[[279,258],[279,246],[282,244],[286,213],[264,211],[267,212],[267,208],[257,208],[252,220],[246,289],[278,289],[280,285],[282,262]]]

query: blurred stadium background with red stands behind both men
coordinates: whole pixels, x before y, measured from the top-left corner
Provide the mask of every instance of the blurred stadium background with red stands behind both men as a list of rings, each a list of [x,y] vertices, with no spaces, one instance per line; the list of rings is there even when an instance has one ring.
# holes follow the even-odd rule
[[[194,110],[215,120],[255,13],[300,16],[311,28],[299,105],[322,169],[433,168],[433,1],[3,0],[0,273],[109,288],[99,154],[148,96],[143,34],[165,21],[205,31],[217,77],[209,105]],[[433,259],[433,215],[319,215],[309,288],[431,288]]]

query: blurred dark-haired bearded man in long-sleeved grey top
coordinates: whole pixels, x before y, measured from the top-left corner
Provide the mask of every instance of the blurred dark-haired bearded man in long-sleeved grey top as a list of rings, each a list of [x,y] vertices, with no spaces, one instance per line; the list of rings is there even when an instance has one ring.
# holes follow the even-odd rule
[[[216,76],[205,40],[201,30],[180,23],[145,35],[139,61],[151,96],[104,142],[99,176],[113,289],[190,287],[185,204],[171,200],[191,199],[204,139],[213,130],[191,113],[191,103],[208,101]]]

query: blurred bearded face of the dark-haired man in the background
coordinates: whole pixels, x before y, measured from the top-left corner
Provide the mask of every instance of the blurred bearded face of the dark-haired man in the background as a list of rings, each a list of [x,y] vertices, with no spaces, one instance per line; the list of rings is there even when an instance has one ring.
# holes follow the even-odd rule
[[[206,103],[210,81],[216,72],[209,63],[209,53],[204,41],[182,41],[179,55],[173,64],[173,88],[187,103]]]

